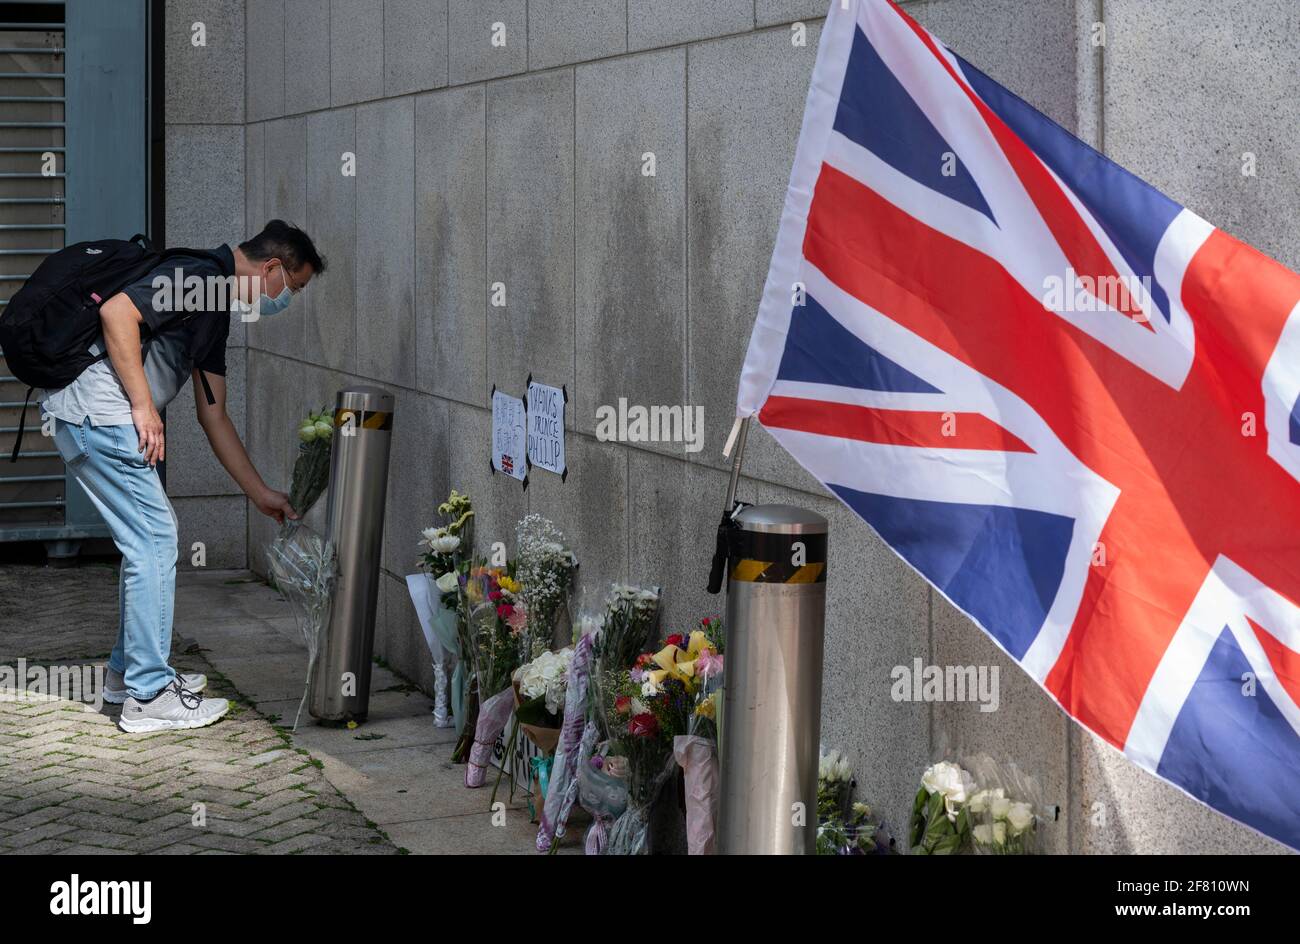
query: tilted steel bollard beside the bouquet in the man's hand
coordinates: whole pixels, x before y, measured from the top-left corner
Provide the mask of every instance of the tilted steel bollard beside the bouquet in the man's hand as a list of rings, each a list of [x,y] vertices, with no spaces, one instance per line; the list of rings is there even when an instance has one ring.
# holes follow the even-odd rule
[[[325,537],[338,555],[338,581],[329,625],[317,645],[307,709],[321,720],[364,720],[369,711],[391,430],[393,394],[387,390],[338,391],[325,512]]]

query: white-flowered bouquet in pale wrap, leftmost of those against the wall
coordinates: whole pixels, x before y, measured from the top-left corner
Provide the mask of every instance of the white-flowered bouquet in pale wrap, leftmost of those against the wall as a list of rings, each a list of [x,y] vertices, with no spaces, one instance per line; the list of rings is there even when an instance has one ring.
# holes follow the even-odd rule
[[[473,557],[474,511],[469,495],[455,489],[438,506],[443,524],[425,528],[419,546],[422,547],[419,566],[425,572],[425,593],[420,601],[425,611],[421,624],[428,623],[425,636],[433,657],[433,723],[446,728],[465,724],[465,659],[460,651],[460,579],[469,572]],[[416,596],[412,592],[412,599]],[[417,602],[420,606],[420,602]]]

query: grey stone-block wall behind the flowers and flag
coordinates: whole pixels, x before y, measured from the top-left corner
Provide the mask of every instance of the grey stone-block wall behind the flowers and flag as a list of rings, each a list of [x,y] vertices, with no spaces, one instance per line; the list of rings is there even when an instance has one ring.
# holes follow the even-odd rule
[[[402,579],[452,486],[473,495],[482,541],[512,546],[520,516],[552,518],[582,559],[582,602],[620,579],[662,584],[675,628],[722,606],[702,589],[725,489],[720,447],[827,1],[247,0],[242,20],[230,4],[169,4],[169,16],[222,10],[209,16],[243,30],[224,69],[244,69],[230,100],[230,75],[205,75],[178,47],[169,174],[188,182],[169,220],[212,242],[239,220],[254,230],[286,216],[330,257],[306,303],[247,328],[250,450],[283,480],[296,416],[344,382],[396,393],[377,654],[421,684],[432,677]],[[1300,263],[1290,218],[1271,209],[1300,182],[1283,134],[1300,90],[1279,68],[1300,47],[1291,4],[906,9],[1175,199]],[[798,29],[805,46],[792,43]],[[213,144],[214,129],[233,137]],[[242,159],[243,173],[218,173],[226,157],[213,148]],[[1240,174],[1245,151],[1258,156],[1254,178]],[[344,152],[355,177],[341,172]],[[654,177],[642,174],[646,153]],[[489,300],[497,282],[504,307]],[[528,373],[568,389],[571,471],[563,484],[534,472],[524,492],[489,473],[489,404],[493,385],[521,394]],[[598,441],[595,410],[620,397],[702,406],[705,449]],[[190,454],[196,471],[177,475],[203,494],[178,510],[207,528],[230,495],[208,494],[218,476]],[[861,796],[897,832],[922,768],[959,742],[1039,775],[1062,807],[1056,852],[1280,849],[1080,732],[760,429],[746,472],[742,497],[832,521],[823,739],[850,754]],[[256,570],[272,534],[247,516]],[[890,701],[890,668],[914,658],[998,666],[1000,710]]]

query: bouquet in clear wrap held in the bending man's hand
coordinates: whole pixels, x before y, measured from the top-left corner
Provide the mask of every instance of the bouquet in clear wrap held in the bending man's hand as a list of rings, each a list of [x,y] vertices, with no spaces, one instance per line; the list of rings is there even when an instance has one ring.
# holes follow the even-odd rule
[[[308,413],[299,424],[298,458],[289,492],[289,503],[298,518],[286,519],[266,549],[266,573],[292,609],[294,623],[307,644],[307,684],[294,715],[295,729],[307,702],[320,635],[329,623],[337,573],[334,547],[302,521],[329,485],[333,434],[333,417],[324,410]]]

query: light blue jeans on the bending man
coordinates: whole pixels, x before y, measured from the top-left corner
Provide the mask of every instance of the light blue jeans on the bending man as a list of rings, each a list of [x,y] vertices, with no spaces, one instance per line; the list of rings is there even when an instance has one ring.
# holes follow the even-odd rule
[[[176,672],[172,607],[176,599],[177,523],[157,469],[144,462],[135,426],[74,425],[55,420],[55,446],[90,495],[122,551],[120,623],[108,667],[139,700],[156,696]]]

